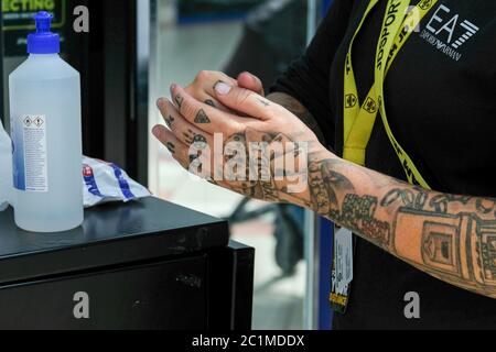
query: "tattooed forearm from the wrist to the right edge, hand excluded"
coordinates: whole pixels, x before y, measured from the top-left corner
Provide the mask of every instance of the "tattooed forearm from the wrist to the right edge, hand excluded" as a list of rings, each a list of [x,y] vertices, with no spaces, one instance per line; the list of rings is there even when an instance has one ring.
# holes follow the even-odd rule
[[[449,284],[496,298],[496,199],[424,190],[311,156],[311,208]]]

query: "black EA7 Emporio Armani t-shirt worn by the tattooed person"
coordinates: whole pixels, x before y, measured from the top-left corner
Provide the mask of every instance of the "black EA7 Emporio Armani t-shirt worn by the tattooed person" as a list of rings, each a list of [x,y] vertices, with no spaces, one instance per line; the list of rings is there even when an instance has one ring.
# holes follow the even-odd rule
[[[345,55],[367,4],[334,0],[305,55],[273,87],[310,110],[338,155]],[[379,1],[355,41],[360,101],[373,85],[386,4]],[[496,197],[495,98],[496,1],[440,0],[403,45],[385,82],[391,130],[433,189]],[[366,165],[406,180],[380,117]],[[420,295],[418,320],[405,317],[410,292]],[[496,299],[432,278],[358,240],[351,304],[334,321],[336,329],[496,329]]]

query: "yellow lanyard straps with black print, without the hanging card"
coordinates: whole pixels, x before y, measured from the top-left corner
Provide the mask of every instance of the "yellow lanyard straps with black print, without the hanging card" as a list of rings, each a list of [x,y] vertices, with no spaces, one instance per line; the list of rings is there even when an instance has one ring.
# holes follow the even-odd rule
[[[371,131],[380,111],[386,133],[391,142],[401,166],[407,174],[410,184],[430,189],[428,183],[417,169],[412,160],[395,139],[386,116],[384,102],[384,81],[398,52],[410,37],[425,14],[434,7],[438,0],[421,0],[417,7],[410,8],[410,0],[388,0],[386,14],[382,21],[380,38],[377,45],[375,59],[375,82],[370,88],[364,102],[359,103],[356,88],[355,74],[353,70],[352,51],[355,37],[370,11],[379,0],[370,0],[365,14],[355,31],[346,55],[344,78],[344,158],[365,165],[365,153],[370,141]]]

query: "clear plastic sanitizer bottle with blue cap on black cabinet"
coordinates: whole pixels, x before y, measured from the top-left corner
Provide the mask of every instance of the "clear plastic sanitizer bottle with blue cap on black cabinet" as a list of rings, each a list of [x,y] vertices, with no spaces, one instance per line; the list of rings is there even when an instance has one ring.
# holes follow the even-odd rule
[[[60,232],[83,223],[80,80],[58,55],[52,14],[34,20],[30,56],[9,77],[14,218],[26,231]]]

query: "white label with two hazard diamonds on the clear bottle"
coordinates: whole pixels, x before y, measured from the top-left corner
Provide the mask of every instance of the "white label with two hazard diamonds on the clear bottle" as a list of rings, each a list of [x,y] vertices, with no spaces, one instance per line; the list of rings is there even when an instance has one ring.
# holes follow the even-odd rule
[[[22,117],[24,190],[48,191],[45,116]]]

